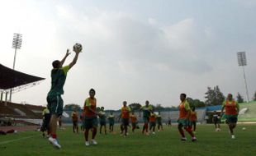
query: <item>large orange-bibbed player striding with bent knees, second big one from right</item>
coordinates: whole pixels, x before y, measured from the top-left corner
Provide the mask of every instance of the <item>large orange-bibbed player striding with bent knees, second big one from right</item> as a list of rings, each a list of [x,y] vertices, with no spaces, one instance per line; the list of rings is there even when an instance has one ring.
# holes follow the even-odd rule
[[[187,140],[185,133],[183,131],[183,128],[184,128],[187,131],[187,133],[192,136],[192,141],[196,141],[197,140],[196,136],[192,132],[191,127],[188,126],[191,111],[190,111],[189,103],[187,103],[186,96],[187,96],[186,94],[180,94],[181,103],[179,104],[178,131],[182,135],[181,140],[183,141]]]

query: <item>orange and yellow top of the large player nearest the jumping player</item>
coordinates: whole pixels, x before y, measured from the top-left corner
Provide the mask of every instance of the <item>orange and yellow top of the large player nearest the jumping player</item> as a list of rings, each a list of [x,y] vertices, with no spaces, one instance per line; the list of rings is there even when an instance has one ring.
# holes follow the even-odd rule
[[[84,112],[84,117],[96,117],[97,115],[95,114],[96,112],[96,99],[91,99],[88,98],[84,102],[84,107],[83,107],[83,112]],[[94,112],[90,111],[89,108],[91,108]]]

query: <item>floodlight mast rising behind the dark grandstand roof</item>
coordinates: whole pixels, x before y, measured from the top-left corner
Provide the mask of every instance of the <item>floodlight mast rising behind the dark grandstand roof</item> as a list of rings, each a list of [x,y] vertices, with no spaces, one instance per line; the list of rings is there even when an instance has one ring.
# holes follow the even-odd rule
[[[14,53],[14,59],[13,59],[13,66],[12,69],[15,69],[15,62],[16,62],[16,54],[17,54],[17,49],[21,49],[21,43],[22,43],[22,34],[13,34],[13,40],[12,40],[12,48],[15,49]],[[12,89],[10,90],[10,102],[12,101]]]

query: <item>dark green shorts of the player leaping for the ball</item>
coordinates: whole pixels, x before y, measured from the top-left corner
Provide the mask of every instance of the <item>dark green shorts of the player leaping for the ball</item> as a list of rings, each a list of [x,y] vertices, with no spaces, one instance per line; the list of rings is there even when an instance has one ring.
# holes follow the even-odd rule
[[[55,114],[58,117],[63,112],[63,99],[60,95],[48,95],[47,96],[47,108],[51,114]]]

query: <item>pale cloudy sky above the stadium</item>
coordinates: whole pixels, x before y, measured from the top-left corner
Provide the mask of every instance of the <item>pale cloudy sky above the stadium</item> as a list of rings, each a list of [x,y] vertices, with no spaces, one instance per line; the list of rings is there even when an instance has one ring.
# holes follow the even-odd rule
[[[83,44],[64,85],[64,104],[177,106],[179,94],[205,101],[207,87],[246,99],[237,52],[246,52],[249,99],[256,90],[254,0],[8,0],[0,4],[0,63],[12,68],[13,33],[22,34],[15,70],[44,77],[12,102],[46,105],[51,62]],[[64,65],[72,62],[74,53]],[[1,73],[4,74],[4,73]]]

